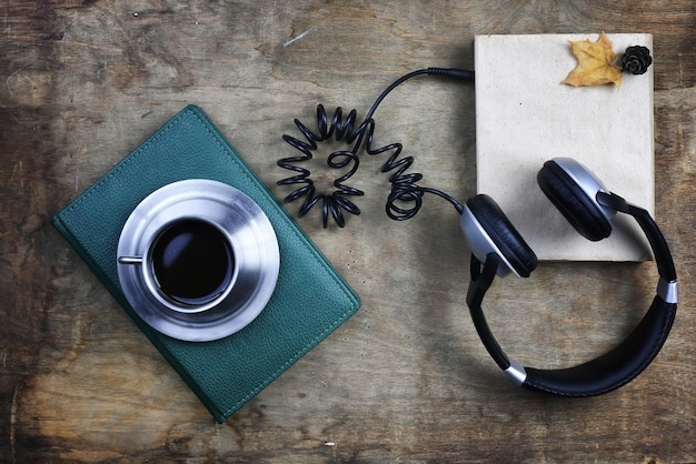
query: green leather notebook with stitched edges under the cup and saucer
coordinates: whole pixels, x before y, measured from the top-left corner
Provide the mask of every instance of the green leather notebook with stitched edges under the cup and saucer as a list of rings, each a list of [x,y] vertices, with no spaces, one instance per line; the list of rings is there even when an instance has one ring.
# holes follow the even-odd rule
[[[129,305],[117,273],[120,231],[136,205],[185,179],[228,183],[268,215],[278,238],[274,295],[248,326],[213,342],[183,342],[146,324]],[[105,286],[222,423],[345,322],[359,299],[218,132],[189,105],[53,218]]]

